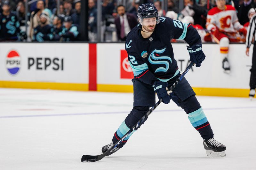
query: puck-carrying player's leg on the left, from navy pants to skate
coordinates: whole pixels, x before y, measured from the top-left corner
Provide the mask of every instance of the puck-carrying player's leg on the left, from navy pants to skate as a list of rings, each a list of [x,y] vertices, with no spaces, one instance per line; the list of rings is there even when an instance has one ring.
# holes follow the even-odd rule
[[[149,107],[154,106],[156,103],[156,93],[151,85],[140,82],[139,80],[132,79],[133,82],[133,108],[129,115],[121,123],[116,130],[112,142],[102,147],[102,152],[107,152],[120,138],[122,138],[146,113],[149,111]],[[144,120],[144,122],[147,118]],[[137,128],[135,128],[124,140],[118,144],[108,155],[115,153],[126,144],[131,135],[140,128],[144,123],[142,122]],[[107,156],[108,156],[107,155]]]

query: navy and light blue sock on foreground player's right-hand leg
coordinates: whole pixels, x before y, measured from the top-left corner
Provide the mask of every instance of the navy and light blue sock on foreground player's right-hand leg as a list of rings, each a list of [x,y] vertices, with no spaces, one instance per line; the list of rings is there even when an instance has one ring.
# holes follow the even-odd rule
[[[188,114],[188,119],[192,126],[200,133],[203,139],[213,137],[213,132],[210,123],[208,122],[202,107]]]

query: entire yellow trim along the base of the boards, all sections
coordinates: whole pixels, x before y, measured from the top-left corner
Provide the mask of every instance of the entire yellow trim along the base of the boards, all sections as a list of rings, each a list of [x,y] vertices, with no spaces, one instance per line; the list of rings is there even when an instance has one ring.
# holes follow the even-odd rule
[[[0,81],[0,87],[89,91],[88,84],[79,84],[79,83]],[[248,97],[249,91],[250,91],[249,89],[228,89],[228,88],[208,88],[208,87],[193,87],[193,90],[196,92],[196,95],[200,95],[200,96],[223,96],[223,97]],[[98,84],[97,91],[98,92],[133,92],[133,86],[132,85]]]

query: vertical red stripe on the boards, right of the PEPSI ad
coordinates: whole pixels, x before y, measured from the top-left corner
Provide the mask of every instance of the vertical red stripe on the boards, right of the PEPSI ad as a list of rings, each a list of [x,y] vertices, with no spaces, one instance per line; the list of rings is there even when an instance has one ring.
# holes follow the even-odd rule
[[[97,44],[89,44],[89,90],[97,91]]]

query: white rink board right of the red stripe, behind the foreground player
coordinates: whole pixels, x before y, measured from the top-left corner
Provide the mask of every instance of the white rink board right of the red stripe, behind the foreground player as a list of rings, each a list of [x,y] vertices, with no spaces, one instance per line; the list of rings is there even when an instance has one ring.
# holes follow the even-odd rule
[[[187,44],[173,43],[174,56],[179,70],[182,72],[189,61]],[[114,85],[132,85],[131,79],[120,78],[120,50],[125,45],[120,43],[97,45],[97,83]],[[252,47],[250,57],[245,55],[244,44],[231,44],[229,46],[229,61],[231,74],[223,73],[222,58],[219,44],[203,44],[206,59],[200,68],[193,67],[186,78],[193,87],[214,88],[249,88],[250,69],[252,65]],[[179,60],[184,60],[183,62]]]

